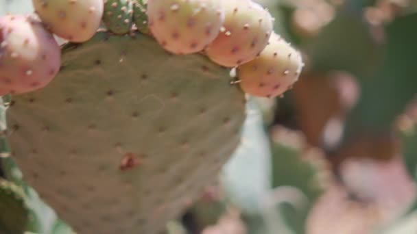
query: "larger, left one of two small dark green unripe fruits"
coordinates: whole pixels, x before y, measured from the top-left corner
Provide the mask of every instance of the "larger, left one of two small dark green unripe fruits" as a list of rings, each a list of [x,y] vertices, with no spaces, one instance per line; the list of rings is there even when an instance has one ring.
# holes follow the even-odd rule
[[[115,34],[127,34],[133,24],[131,0],[104,0],[103,22]]]

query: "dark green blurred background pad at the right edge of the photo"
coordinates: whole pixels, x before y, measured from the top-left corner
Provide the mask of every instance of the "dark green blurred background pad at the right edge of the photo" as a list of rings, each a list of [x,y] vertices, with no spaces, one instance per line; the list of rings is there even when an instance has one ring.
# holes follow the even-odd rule
[[[359,79],[361,99],[348,118],[347,135],[389,130],[417,93],[416,24],[417,14],[410,14],[396,18],[386,27],[388,44],[383,64],[371,77]]]

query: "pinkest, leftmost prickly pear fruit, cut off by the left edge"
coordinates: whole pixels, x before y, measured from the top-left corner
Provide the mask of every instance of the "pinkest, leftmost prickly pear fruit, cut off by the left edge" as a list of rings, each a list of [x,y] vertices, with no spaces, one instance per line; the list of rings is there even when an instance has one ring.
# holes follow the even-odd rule
[[[60,69],[60,47],[35,18],[0,17],[0,95],[46,86]]]

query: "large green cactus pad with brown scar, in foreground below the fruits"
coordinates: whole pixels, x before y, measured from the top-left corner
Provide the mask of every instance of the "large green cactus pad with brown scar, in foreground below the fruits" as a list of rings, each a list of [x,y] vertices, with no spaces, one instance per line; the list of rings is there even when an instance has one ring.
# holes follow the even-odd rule
[[[244,109],[208,58],[99,32],[64,46],[49,86],[14,96],[8,140],[24,179],[76,232],[152,234],[216,179]]]

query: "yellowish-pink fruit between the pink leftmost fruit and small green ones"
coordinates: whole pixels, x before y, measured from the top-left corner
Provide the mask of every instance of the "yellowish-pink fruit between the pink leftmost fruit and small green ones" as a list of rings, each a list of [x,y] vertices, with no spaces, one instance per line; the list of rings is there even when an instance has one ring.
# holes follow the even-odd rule
[[[103,0],[32,0],[40,19],[60,38],[84,42],[102,21]]]

